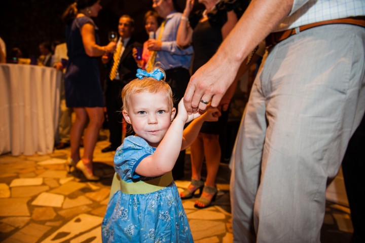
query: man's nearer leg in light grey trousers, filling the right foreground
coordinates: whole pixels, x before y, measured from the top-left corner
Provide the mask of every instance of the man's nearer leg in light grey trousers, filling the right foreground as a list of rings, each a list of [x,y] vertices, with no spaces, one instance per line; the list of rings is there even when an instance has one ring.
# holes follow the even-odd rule
[[[364,40],[359,27],[320,26],[277,44],[266,59],[258,242],[320,241],[327,181],[365,109]]]

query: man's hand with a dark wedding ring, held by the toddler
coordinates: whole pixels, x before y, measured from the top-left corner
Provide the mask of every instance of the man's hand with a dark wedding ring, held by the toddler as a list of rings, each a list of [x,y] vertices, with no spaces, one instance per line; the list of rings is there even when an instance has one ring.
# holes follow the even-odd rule
[[[204,113],[209,101],[212,107],[220,104],[239,67],[227,60],[225,55],[214,55],[191,77],[184,95],[184,105],[188,114]]]

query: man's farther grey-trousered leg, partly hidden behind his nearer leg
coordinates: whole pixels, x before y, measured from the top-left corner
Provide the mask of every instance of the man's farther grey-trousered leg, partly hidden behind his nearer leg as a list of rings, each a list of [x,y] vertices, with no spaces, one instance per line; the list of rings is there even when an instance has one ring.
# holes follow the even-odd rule
[[[252,85],[230,161],[233,241],[237,243],[256,242],[253,204],[259,187],[267,126],[265,109],[259,72]]]

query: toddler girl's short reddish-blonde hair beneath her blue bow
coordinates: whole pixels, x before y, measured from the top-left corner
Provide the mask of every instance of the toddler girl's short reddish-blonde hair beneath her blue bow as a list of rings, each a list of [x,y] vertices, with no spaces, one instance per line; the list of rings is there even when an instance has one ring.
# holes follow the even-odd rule
[[[171,87],[165,82],[165,72],[161,67],[155,66],[153,70],[155,68],[159,68],[164,74],[162,80],[159,81],[152,77],[144,77],[143,79],[134,79],[124,86],[122,90],[123,110],[128,111],[128,101],[133,94],[142,92],[166,93],[169,97],[169,105],[171,106],[171,109],[173,108],[172,90]]]

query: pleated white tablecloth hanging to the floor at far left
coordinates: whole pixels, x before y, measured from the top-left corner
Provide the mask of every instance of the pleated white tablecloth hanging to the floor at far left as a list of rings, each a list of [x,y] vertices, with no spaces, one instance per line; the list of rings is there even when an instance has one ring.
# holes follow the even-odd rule
[[[0,154],[52,153],[60,84],[55,68],[0,64]]]

